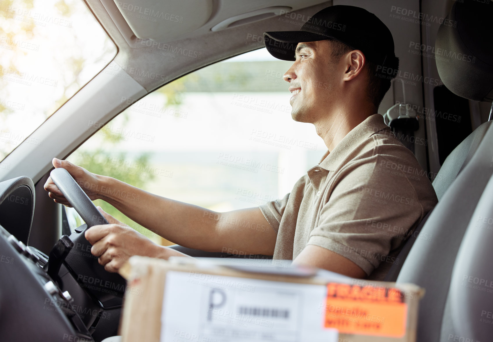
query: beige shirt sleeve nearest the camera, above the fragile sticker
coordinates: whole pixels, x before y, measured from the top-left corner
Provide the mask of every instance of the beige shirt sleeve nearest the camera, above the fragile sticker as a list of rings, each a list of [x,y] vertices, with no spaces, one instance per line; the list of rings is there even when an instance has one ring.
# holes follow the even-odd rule
[[[358,161],[335,175],[308,244],[351,260],[367,275],[389,257],[423,217],[416,191],[405,176],[391,175],[372,162]]]

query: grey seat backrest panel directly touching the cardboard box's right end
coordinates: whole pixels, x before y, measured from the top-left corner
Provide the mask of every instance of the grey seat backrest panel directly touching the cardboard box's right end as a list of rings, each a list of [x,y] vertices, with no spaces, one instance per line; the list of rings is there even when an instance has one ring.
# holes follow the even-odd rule
[[[440,341],[452,269],[464,232],[493,174],[492,158],[493,125],[489,124],[471,160],[424,223],[421,234],[430,238],[416,239],[399,272],[397,282],[426,290],[420,303],[417,341]]]

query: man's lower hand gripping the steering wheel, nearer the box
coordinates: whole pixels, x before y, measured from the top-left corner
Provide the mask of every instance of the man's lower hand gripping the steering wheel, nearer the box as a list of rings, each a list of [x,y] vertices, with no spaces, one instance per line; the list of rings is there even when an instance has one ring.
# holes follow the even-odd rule
[[[163,248],[133,228],[118,221],[97,207],[108,225],[97,225],[86,230],[85,237],[93,246],[91,253],[108,272],[118,269],[133,255],[157,257]]]

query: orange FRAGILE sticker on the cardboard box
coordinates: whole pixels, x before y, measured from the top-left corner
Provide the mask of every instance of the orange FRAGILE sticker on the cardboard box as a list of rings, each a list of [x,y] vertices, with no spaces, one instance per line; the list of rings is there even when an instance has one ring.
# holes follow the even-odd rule
[[[325,328],[343,334],[403,337],[407,304],[404,293],[388,287],[327,284]]]

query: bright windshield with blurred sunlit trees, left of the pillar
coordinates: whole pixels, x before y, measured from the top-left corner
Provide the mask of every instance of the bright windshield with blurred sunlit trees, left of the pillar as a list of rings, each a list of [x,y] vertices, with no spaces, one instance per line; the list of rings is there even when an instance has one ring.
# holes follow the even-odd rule
[[[81,0],[2,0],[0,161],[116,52]]]

